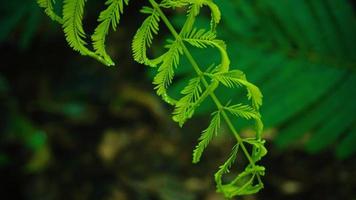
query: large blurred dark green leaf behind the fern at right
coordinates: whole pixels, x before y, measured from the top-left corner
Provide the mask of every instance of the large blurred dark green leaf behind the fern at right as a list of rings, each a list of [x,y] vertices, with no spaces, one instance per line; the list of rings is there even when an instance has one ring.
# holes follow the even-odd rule
[[[347,0],[216,0],[221,35],[233,56],[264,94],[262,116],[277,128],[281,147],[301,141],[310,153],[336,145],[346,158],[356,153],[356,18]],[[180,18],[176,19],[177,24]],[[205,19],[199,21],[208,24]],[[216,52],[195,52],[207,66]],[[191,74],[185,62],[181,83]],[[178,94],[177,84],[172,94]],[[220,89],[219,96],[241,98]],[[213,108],[206,104],[201,113]]]

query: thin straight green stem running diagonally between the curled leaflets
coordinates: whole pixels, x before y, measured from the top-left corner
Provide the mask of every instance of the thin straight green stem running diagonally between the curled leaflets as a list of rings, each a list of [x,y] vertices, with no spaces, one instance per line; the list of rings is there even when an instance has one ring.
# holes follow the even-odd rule
[[[164,14],[164,12],[162,11],[162,9],[160,8],[159,4],[157,2],[155,2],[154,0],[149,0],[150,4],[153,6],[153,8],[155,8],[162,21],[164,22],[164,24],[167,26],[167,28],[169,29],[169,31],[171,32],[171,34],[174,36],[174,38],[177,41],[181,41],[182,38],[181,36],[178,34],[178,32],[175,30],[175,28],[173,27],[173,25],[171,24],[171,22],[169,21],[169,19],[167,18],[167,16]],[[202,79],[202,83],[204,85],[205,88],[209,88],[209,83],[206,80],[206,78],[204,76],[202,76],[203,71],[200,69],[197,61],[194,59],[194,57],[192,56],[192,54],[190,53],[189,49],[186,47],[186,45],[184,43],[181,44],[182,48],[183,48],[183,53],[184,55],[187,57],[188,61],[190,62],[190,64],[192,65],[192,67],[194,68],[194,71],[197,73],[197,75],[199,77],[201,77]],[[250,153],[248,152],[245,144],[244,144],[244,140],[241,138],[241,136],[238,134],[236,128],[234,127],[233,123],[231,122],[229,116],[227,115],[227,113],[224,110],[224,106],[222,105],[221,101],[218,99],[218,97],[215,95],[214,91],[210,92],[209,96],[212,98],[213,102],[215,103],[216,107],[218,108],[219,112],[222,114],[223,119],[225,120],[226,124],[228,125],[229,129],[231,130],[231,132],[233,133],[234,137],[237,140],[237,146],[239,146],[245,157],[248,159],[248,162],[250,163],[250,165],[255,168],[255,161],[252,159]],[[259,136],[258,136],[259,137]],[[260,138],[258,138],[260,139]],[[256,177],[258,180],[258,184],[263,186],[263,183],[261,181],[260,178],[260,174],[256,173]]]

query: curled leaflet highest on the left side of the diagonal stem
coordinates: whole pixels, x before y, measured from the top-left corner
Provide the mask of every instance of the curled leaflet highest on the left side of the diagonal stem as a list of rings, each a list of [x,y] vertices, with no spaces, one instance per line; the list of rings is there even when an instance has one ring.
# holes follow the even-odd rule
[[[141,12],[150,14],[150,16],[145,19],[134,36],[132,41],[133,57],[138,63],[155,67],[161,62],[161,58],[156,61],[148,59],[147,49],[152,45],[153,35],[158,34],[160,21],[159,14],[155,9],[149,7],[144,7]]]

